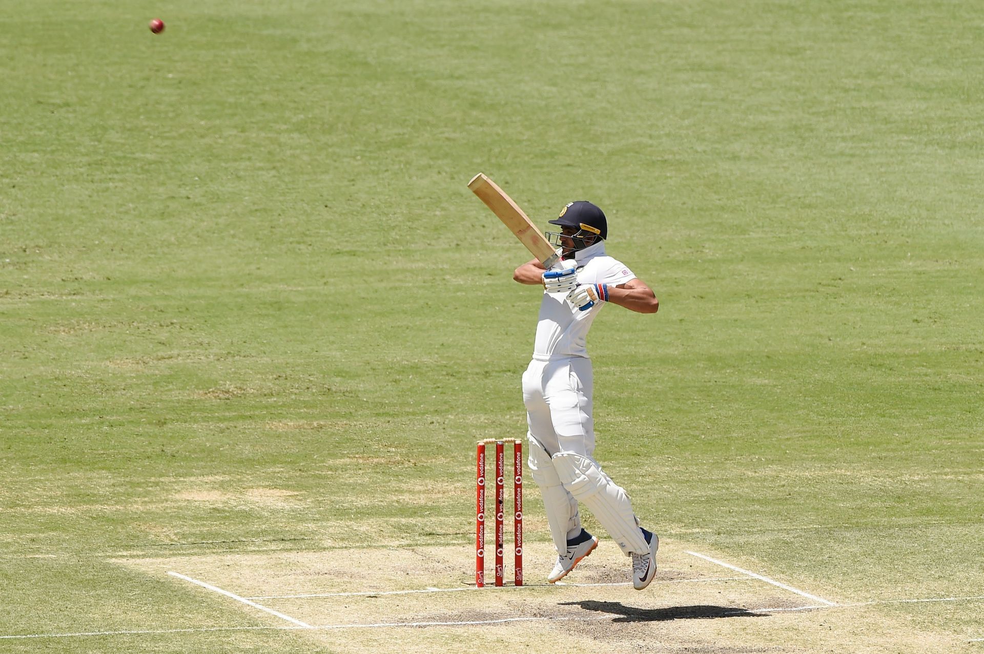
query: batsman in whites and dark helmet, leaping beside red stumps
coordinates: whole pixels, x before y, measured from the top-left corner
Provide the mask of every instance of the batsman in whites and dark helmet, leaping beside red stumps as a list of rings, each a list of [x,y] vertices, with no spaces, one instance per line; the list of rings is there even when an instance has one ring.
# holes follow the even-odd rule
[[[600,208],[574,202],[561,209],[559,232],[546,232],[561,248],[563,269],[546,270],[533,260],[516,268],[521,284],[543,286],[533,358],[523,373],[523,403],[529,425],[529,469],[543,495],[557,565],[556,583],[598,545],[581,526],[584,504],[632,557],[632,580],[643,590],[656,572],[659,538],[644,529],[622,487],[594,460],[591,360],[585,341],[598,312],[616,304],[654,314],[659,301],[646,283],[605,254],[608,223]]]

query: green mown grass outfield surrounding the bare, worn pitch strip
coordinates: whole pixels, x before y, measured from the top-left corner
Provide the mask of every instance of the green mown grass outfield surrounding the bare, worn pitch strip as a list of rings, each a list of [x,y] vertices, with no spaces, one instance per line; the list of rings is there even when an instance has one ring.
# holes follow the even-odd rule
[[[0,636],[276,624],[123,560],[461,546],[466,578],[473,441],[524,435],[539,300],[479,171],[539,223],[604,208],[660,298],[589,349],[597,457],[668,547],[838,603],[984,595],[982,21],[0,0]],[[979,651],[982,606],[873,609],[858,651]]]

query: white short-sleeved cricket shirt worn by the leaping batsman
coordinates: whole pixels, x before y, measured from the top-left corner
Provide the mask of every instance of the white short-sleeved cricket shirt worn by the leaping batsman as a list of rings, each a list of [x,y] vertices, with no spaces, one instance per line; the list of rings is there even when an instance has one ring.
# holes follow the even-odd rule
[[[595,243],[574,254],[578,264],[578,283],[622,284],[636,275],[617,259],[605,255],[605,243]],[[567,301],[565,293],[543,291],[533,359],[549,361],[566,357],[587,357],[587,330],[604,302],[595,302],[587,311]]]

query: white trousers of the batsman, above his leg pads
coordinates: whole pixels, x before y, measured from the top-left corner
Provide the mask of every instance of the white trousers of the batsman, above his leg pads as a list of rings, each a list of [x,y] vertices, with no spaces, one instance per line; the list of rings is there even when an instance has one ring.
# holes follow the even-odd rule
[[[570,451],[591,456],[591,360],[566,357],[529,362],[523,373],[523,404],[530,438],[551,456]]]

